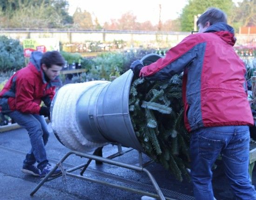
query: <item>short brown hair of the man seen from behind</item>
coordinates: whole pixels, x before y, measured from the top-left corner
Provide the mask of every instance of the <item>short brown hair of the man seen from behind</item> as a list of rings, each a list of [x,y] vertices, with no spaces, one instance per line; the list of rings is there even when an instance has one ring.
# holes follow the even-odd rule
[[[210,25],[218,22],[227,23],[227,15],[221,9],[216,7],[209,7],[202,15],[198,18],[196,25],[202,24],[205,26],[206,22],[210,22]]]

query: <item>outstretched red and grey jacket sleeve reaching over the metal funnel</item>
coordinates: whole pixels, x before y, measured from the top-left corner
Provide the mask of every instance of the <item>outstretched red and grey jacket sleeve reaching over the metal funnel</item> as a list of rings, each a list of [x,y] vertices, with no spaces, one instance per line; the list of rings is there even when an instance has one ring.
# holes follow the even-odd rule
[[[196,34],[189,35],[177,46],[171,48],[165,57],[142,67],[140,77],[145,77],[147,80],[165,80],[171,78],[175,73],[181,73],[196,57],[196,46],[199,43]]]

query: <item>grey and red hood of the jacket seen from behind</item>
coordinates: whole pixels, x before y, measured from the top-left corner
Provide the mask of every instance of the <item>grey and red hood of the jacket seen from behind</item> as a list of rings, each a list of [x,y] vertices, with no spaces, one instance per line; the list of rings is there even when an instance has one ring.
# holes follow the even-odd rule
[[[231,46],[234,46],[236,43],[234,28],[223,22],[218,22],[208,27],[204,33],[215,33]]]

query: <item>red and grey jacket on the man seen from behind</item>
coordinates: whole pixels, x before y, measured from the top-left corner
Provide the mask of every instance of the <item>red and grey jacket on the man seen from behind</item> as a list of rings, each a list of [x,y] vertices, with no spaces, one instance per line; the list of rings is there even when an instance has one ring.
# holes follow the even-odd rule
[[[233,49],[234,30],[216,23],[171,48],[140,75],[164,80],[183,73],[184,122],[188,131],[201,127],[254,125],[247,100],[243,61]]]

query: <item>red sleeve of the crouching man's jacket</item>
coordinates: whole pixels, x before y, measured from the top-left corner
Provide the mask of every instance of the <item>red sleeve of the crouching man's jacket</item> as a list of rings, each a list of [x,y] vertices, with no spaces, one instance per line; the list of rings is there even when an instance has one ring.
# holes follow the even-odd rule
[[[15,104],[16,109],[21,113],[39,114],[40,106],[34,102],[34,84],[23,78],[16,80]]]

